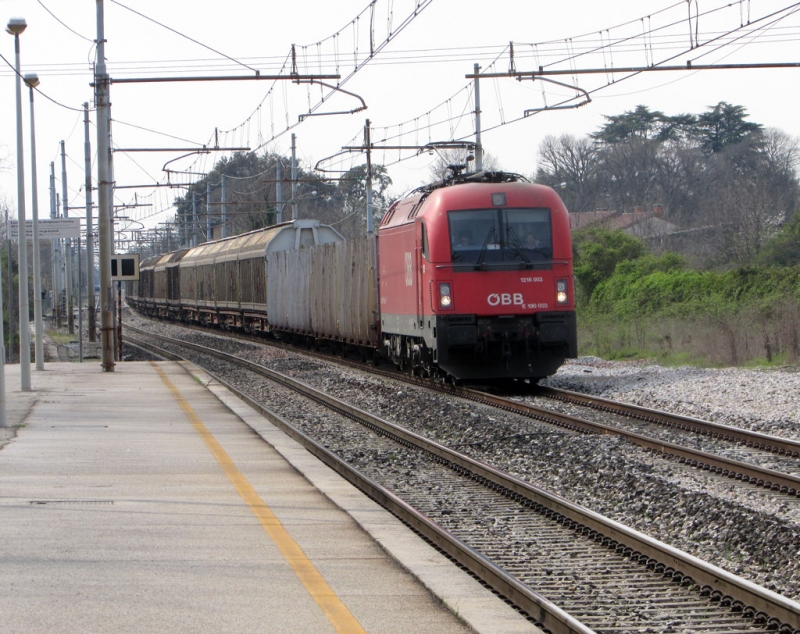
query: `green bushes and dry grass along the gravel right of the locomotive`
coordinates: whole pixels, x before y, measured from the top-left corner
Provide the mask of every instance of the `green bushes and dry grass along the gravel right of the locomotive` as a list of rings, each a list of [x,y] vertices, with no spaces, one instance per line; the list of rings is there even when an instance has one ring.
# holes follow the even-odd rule
[[[674,253],[645,254],[622,232],[574,239],[581,354],[700,365],[800,359],[796,221],[764,247],[783,254],[779,264],[722,272],[690,269]]]

